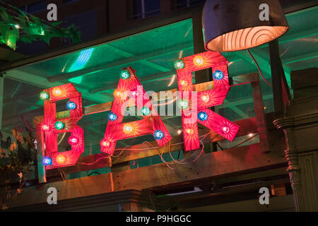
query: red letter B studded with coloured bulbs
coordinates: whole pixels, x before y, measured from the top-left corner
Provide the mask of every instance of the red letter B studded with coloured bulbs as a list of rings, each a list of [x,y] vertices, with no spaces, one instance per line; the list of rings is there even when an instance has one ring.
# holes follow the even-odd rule
[[[41,130],[45,132],[45,154],[52,159],[52,165],[46,169],[75,165],[78,157],[84,152],[83,129],[76,123],[83,116],[81,93],[71,84],[59,85],[44,90],[47,95],[44,100],[45,119],[41,124]],[[69,98],[67,108],[69,117],[57,119],[56,102]],[[57,148],[57,134],[71,132],[69,144],[71,150],[59,153]]]

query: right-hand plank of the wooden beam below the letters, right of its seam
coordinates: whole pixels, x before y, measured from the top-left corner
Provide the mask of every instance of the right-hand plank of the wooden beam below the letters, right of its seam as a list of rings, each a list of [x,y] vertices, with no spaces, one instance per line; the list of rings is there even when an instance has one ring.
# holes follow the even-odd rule
[[[114,191],[124,189],[152,189],[162,186],[195,182],[200,179],[226,177],[233,174],[257,172],[279,167],[285,163],[282,153],[265,154],[259,143],[208,153],[196,162],[174,165],[169,169],[165,163],[116,172],[113,174]]]

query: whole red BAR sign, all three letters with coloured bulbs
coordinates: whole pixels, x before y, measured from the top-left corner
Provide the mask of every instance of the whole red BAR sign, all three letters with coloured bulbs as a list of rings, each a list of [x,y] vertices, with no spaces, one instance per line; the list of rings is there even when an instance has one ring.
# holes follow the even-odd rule
[[[179,91],[177,106],[182,117],[184,150],[200,148],[198,122],[232,141],[240,129],[239,126],[208,108],[222,105],[228,95],[228,61],[219,52],[208,51],[177,59],[175,68]],[[194,92],[192,72],[208,68],[213,70],[214,87],[199,93]],[[44,101],[45,117],[36,128],[37,133],[42,136],[42,147],[45,147],[45,157],[42,160],[45,169],[75,165],[84,152],[83,129],[76,124],[83,116],[81,93],[69,83],[43,90],[40,98]],[[63,99],[69,99],[66,104],[69,115],[57,120],[56,102]],[[143,119],[122,124],[124,110],[131,100],[142,113]],[[57,134],[66,132],[71,132],[71,150],[59,153]],[[160,147],[172,139],[136,72],[129,67],[120,73],[117,89],[114,90],[114,102],[108,114],[105,136],[100,141],[100,151],[112,155],[117,141],[147,134],[153,134]]]

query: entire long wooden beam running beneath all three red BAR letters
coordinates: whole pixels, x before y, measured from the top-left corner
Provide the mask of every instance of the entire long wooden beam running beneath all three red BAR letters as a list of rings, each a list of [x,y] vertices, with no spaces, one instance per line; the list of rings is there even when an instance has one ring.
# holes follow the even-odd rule
[[[169,169],[165,163],[129,169],[123,172],[100,174],[79,179],[69,179],[61,182],[29,186],[23,188],[19,198],[11,207],[46,203],[47,189],[55,187],[58,191],[58,201],[71,198],[95,196],[112,191],[128,189],[152,189],[163,186],[178,186],[179,184],[196,184],[201,179],[213,180],[232,175],[258,172],[263,169],[274,169],[285,164],[285,157],[280,151],[265,154],[259,143],[242,146],[199,157],[196,162],[187,165],[175,165]]]

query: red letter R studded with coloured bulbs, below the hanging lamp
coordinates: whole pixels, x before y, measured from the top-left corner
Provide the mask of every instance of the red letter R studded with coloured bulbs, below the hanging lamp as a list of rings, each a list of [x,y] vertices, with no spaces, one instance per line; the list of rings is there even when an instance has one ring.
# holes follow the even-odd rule
[[[232,141],[239,126],[208,107],[222,105],[230,85],[228,83],[228,61],[219,52],[204,52],[184,57],[176,62],[179,103],[182,108],[182,128],[185,150],[200,148],[196,121]],[[200,93],[193,91],[192,72],[213,67],[213,89]],[[179,107],[180,107],[179,105]]]

